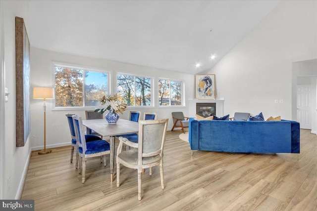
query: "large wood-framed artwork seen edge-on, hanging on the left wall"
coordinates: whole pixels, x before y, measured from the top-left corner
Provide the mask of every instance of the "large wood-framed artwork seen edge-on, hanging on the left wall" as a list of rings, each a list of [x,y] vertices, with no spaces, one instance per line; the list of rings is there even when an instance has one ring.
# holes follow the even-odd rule
[[[30,134],[30,42],[23,18],[15,17],[16,146]]]

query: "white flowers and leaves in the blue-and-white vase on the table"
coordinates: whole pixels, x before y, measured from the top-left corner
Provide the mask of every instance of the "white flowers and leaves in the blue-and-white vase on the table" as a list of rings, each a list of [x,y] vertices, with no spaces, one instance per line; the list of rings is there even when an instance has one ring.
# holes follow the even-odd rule
[[[99,99],[102,105],[104,105],[104,108],[96,109],[95,112],[101,112],[102,114],[105,113],[106,110],[112,111],[112,113],[118,113],[120,112],[123,114],[123,111],[125,111],[126,107],[128,105],[119,99],[119,96],[117,94],[113,95],[104,95],[102,98]]]

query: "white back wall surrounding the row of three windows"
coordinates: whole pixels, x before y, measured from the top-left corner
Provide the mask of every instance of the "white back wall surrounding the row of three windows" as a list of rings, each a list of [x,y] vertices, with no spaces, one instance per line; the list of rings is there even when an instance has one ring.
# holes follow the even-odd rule
[[[52,61],[81,65],[85,67],[93,67],[98,69],[111,70],[112,82],[116,80],[116,73],[130,73],[141,76],[154,78],[154,95],[158,93],[157,81],[159,77],[169,78],[174,80],[181,80],[185,84],[185,102],[186,107],[176,108],[159,108],[158,103],[153,108],[139,109],[131,108],[132,110],[140,110],[142,112],[157,112],[158,119],[169,118],[168,129],[172,127],[172,111],[182,111],[184,115],[188,114],[188,98],[194,98],[194,75],[183,74],[178,72],[166,71],[151,67],[144,67],[121,62],[109,61],[104,59],[87,58],[77,55],[69,55],[59,52],[43,50],[31,47],[31,95],[33,96],[33,87],[47,86],[53,87],[53,69]],[[116,91],[115,83],[111,84],[111,90]],[[112,91],[113,93],[113,91]],[[157,102],[157,98],[156,99]],[[32,150],[43,148],[44,137],[44,117],[43,117],[43,101],[35,100],[31,97],[31,134],[30,142]],[[46,144],[47,148],[70,145],[70,132],[65,113],[77,114],[85,119],[84,110],[65,110],[65,111],[52,111],[53,100],[47,100],[47,130],[46,130]],[[129,119],[129,111],[126,110],[120,118]],[[141,119],[143,118],[143,114]]]

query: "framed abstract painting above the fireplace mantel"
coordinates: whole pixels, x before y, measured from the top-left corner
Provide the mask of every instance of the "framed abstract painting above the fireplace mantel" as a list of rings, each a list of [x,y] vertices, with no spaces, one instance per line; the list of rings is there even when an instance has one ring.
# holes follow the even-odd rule
[[[200,100],[215,99],[215,75],[195,75],[195,98]]]

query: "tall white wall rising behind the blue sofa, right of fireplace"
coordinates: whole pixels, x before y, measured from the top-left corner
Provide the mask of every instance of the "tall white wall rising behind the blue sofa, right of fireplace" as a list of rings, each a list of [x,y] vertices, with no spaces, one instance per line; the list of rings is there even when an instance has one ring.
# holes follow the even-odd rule
[[[317,1],[282,1],[209,71],[225,114],[292,119],[292,62],[317,58],[316,8]]]

